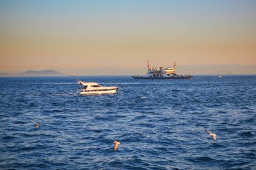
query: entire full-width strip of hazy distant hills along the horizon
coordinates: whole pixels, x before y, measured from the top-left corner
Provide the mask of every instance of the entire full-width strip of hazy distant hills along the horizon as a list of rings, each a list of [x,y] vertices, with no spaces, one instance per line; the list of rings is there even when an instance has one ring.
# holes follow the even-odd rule
[[[159,67],[159,66],[156,66]],[[256,65],[178,65],[179,75],[256,75]],[[84,69],[0,72],[0,77],[55,77],[68,75],[146,75],[147,67],[90,67]],[[68,73],[68,74],[65,74]],[[70,74],[72,73],[72,74]]]

